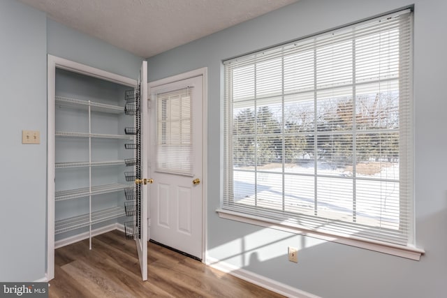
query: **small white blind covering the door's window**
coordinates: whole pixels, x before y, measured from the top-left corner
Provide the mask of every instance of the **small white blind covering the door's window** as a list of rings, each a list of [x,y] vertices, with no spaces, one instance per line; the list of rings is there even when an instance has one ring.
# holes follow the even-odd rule
[[[156,94],[156,170],[191,174],[191,87]]]

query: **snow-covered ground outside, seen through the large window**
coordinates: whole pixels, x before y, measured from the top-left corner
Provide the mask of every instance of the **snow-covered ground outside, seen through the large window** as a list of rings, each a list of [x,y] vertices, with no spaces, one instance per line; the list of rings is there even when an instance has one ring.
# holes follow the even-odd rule
[[[242,204],[280,210],[284,207],[284,211],[342,221],[353,221],[355,215],[358,223],[398,228],[399,165],[383,163],[380,168],[375,174],[357,174],[354,178],[352,172],[328,167],[318,168],[315,176],[314,167],[299,165],[289,165],[283,174],[278,164],[262,172],[258,169],[256,179],[248,169],[235,169],[234,198]]]

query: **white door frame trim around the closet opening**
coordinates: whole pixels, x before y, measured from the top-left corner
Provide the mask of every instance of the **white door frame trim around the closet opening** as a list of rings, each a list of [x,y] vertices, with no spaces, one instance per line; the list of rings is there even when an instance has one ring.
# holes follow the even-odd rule
[[[56,95],[56,68],[123,84],[132,88],[137,84],[136,80],[129,77],[109,73],[105,70],[79,64],[50,54],[47,55],[47,268],[45,271],[47,281],[51,281],[54,278],[54,158],[56,152],[56,138],[54,135],[56,110],[54,96]],[[66,244],[79,240],[81,239],[71,239],[71,242],[66,242]]]

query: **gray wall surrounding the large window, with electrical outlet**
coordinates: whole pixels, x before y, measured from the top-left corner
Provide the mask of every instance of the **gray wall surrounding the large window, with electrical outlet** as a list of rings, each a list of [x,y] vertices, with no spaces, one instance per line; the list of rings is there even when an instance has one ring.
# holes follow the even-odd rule
[[[420,261],[219,218],[221,61],[415,4],[415,200]],[[447,281],[447,1],[300,0],[148,59],[149,82],[208,67],[208,255],[322,297],[444,297]],[[439,233],[439,234],[437,234]],[[287,246],[298,246],[298,264]]]

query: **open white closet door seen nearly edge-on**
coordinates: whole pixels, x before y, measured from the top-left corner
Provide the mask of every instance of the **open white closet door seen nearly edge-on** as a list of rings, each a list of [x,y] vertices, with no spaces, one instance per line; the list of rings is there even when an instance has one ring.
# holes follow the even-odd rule
[[[141,154],[140,154],[140,168],[141,177],[137,177],[146,181],[148,177],[147,160],[148,160],[148,139],[149,132],[147,131],[147,61],[142,61],[140,69],[140,77],[138,80],[140,88],[140,112],[141,112]],[[150,185],[150,184],[149,184]],[[140,184],[140,202],[137,202],[137,227],[140,232],[136,237],[136,246],[138,251],[138,260],[140,261],[140,269],[142,280],[147,280],[147,197],[149,195],[149,185],[147,182]]]

